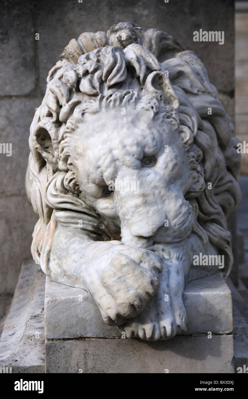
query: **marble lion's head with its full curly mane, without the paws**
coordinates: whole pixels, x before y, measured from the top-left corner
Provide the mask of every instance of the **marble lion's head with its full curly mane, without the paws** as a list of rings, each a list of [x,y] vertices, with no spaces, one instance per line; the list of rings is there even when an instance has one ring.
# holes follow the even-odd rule
[[[46,272],[56,223],[147,248],[194,231],[225,253],[228,275],[226,217],[240,200],[233,132],[203,63],[169,34],[123,22],[71,40],[30,128],[34,259]],[[126,181],[139,190],[109,189]]]

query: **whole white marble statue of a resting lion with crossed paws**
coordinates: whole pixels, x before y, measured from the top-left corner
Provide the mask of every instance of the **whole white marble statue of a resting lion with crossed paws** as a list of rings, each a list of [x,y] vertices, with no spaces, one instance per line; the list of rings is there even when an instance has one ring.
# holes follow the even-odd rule
[[[238,139],[206,68],[169,34],[121,22],[71,40],[47,81],[26,176],[34,260],[127,338],[186,331],[185,284],[230,273],[241,196]],[[200,253],[224,263],[196,265]]]

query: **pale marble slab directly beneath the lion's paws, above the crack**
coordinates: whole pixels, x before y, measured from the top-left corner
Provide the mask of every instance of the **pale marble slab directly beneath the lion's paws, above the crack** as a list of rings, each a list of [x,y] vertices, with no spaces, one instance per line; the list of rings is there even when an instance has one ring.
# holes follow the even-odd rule
[[[190,282],[183,294],[188,330],[183,334],[232,332],[232,296],[222,274]],[[107,326],[91,295],[46,278],[46,339],[104,338],[121,336]]]

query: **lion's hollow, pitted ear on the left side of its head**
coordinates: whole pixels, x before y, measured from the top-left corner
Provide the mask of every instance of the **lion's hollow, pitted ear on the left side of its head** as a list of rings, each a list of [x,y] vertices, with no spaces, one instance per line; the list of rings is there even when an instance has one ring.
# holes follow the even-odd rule
[[[59,170],[59,131],[60,126],[52,122],[52,118],[43,118],[37,123],[32,139],[34,146],[54,170]]]

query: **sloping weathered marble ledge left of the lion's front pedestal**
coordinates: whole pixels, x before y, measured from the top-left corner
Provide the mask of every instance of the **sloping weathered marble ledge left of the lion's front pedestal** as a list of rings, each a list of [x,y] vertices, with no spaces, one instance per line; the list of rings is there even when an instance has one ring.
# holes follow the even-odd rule
[[[12,373],[44,373],[45,276],[33,260],[22,265],[0,339],[0,367]]]

